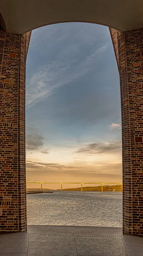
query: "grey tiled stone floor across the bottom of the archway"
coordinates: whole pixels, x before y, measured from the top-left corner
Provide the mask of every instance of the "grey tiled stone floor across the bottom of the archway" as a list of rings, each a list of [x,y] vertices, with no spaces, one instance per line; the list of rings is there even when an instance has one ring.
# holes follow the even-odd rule
[[[0,256],[143,256],[143,237],[115,227],[31,225],[0,234]]]

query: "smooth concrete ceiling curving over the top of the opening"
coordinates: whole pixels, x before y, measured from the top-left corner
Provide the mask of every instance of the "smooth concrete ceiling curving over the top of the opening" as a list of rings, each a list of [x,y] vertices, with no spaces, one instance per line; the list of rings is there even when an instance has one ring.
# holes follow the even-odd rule
[[[1,26],[14,34],[71,21],[121,31],[143,28],[143,0],[0,0],[0,13]]]

